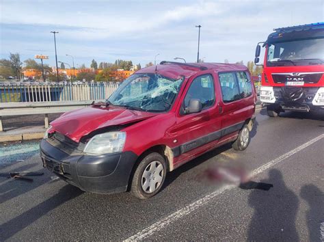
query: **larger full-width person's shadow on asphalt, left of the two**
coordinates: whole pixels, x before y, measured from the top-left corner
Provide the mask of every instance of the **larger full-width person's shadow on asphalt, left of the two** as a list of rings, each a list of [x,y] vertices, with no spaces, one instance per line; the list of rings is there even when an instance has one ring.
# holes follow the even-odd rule
[[[298,198],[286,187],[282,173],[273,169],[262,183],[273,183],[273,189],[254,189],[249,206],[254,215],[249,224],[247,241],[299,241],[295,227]]]

